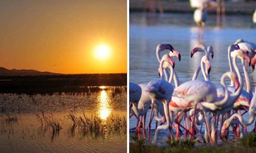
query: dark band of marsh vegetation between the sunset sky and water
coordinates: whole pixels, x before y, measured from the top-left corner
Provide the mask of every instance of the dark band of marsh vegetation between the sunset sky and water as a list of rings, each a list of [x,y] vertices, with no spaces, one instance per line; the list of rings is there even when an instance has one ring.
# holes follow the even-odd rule
[[[0,93],[49,94],[56,92],[97,92],[102,89],[95,86],[126,86],[127,73],[112,74],[70,74],[39,76],[0,76]],[[122,93],[123,88],[114,88]],[[127,89],[126,89],[127,90]]]

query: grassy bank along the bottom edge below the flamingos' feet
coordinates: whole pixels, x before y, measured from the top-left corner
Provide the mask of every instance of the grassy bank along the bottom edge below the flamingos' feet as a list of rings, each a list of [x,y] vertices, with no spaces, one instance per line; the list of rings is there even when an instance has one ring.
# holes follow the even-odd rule
[[[150,145],[145,140],[139,140],[137,135],[130,135],[130,153],[147,152],[186,152],[186,153],[255,153],[256,134],[251,133],[239,141],[229,141],[228,143],[198,144],[195,140],[178,140],[176,142],[167,141],[165,146]]]

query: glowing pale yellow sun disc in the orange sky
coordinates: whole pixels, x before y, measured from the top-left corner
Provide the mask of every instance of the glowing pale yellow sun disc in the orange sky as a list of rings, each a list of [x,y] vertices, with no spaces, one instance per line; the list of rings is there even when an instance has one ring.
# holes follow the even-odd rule
[[[96,58],[106,59],[109,57],[110,54],[110,47],[105,44],[99,44],[95,48],[95,56]]]

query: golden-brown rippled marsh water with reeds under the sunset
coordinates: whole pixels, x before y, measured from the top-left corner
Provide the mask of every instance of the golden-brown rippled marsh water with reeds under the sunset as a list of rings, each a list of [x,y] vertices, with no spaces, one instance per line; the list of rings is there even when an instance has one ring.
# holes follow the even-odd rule
[[[126,86],[99,88],[0,94],[0,152],[126,152]]]

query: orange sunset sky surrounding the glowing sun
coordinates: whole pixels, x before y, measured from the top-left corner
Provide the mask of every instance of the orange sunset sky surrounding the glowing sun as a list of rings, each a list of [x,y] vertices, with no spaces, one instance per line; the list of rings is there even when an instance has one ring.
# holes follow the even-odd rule
[[[0,67],[126,73],[126,0],[2,1]],[[98,44],[108,58],[95,56]],[[56,65],[56,66],[54,66]]]

